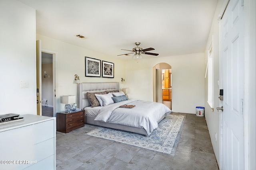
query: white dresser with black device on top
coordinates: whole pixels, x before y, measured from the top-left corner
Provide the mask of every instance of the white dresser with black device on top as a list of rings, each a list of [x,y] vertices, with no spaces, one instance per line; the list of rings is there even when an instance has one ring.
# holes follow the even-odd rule
[[[56,170],[56,117],[20,117],[0,125],[0,169]]]

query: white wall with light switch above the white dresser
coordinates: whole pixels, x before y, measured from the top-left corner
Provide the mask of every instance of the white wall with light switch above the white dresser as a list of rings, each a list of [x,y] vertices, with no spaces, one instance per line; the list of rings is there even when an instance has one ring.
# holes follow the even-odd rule
[[[36,115],[36,10],[1,0],[0,23],[0,114]]]

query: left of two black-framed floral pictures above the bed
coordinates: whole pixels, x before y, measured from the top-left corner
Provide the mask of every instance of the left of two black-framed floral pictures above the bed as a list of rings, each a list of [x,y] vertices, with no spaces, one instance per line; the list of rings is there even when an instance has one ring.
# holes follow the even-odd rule
[[[85,76],[86,77],[100,77],[100,60],[85,57]]]

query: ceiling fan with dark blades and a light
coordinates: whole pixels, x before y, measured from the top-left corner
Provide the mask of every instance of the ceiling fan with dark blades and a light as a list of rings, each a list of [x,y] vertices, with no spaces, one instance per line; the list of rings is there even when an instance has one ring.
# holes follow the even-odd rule
[[[153,48],[147,48],[147,49],[140,48],[139,47],[140,42],[135,43],[135,45],[137,45],[137,47],[133,48],[132,50],[126,50],[126,51],[132,51],[132,53],[135,53],[134,56],[132,57],[134,59],[142,59],[142,54],[155,55],[155,56],[159,55],[159,54],[156,54],[156,53],[148,53],[148,52],[146,52],[146,51],[154,50]],[[125,50],[125,49],[121,49],[121,50]],[[129,54],[132,54],[132,53],[126,53],[126,54],[121,54],[121,55],[129,55]],[[118,55],[118,56],[120,56],[120,55]]]

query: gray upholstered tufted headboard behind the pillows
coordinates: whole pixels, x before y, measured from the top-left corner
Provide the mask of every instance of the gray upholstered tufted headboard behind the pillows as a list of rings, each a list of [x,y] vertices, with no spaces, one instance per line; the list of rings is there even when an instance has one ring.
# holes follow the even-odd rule
[[[105,90],[119,90],[119,82],[79,83],[78,84],[78,108],[91,106],[86,93],[102,92]]]

